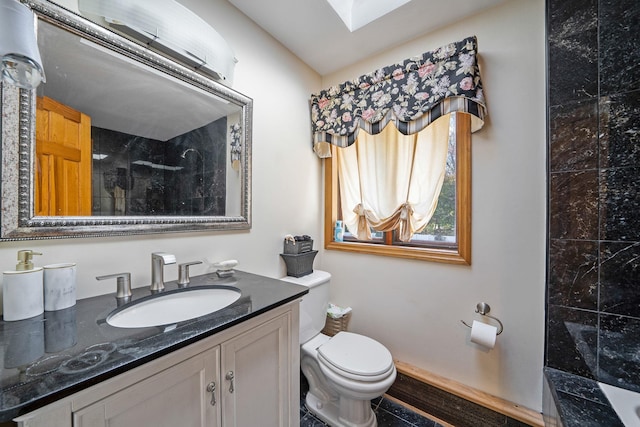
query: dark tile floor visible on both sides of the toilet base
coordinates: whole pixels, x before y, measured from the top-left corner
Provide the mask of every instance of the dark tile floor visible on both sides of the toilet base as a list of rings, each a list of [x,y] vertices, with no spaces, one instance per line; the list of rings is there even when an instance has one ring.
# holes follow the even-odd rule
[[[307,390],[309,390],[309,384],[300,373],[300,427],[326,426],[327,424],[314,417],[304,406]],[[371,406],[378,418],[378,427],[443,427],[384,397],[372,400]]]

